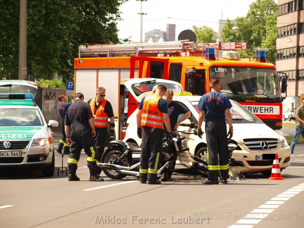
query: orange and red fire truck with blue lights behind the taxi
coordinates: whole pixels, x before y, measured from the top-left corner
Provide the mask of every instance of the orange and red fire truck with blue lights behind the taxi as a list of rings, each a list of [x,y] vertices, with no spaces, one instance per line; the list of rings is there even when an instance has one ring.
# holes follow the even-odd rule
[[[210,92],[210,79],[220,78],[222,93],[282,134],[282,101],[286,95],[282,97],[281,93],[286,93],[286,74],[277,72],[269,62],[268,49],[254,48],[248,59],[233,51],[238,49],[247,49],[247,43],[180,40],[81,45],[75,58],[75,92],[81,90],[93,97],[92,88],[110,84],[111,90],[122,95],[121,85],[127,78],[159,78],[176,81],[185,91],[203,95]],[[279,73],[283,75],[281,87]],[[129,106],[136,104],[134,99],[128,102]]]

